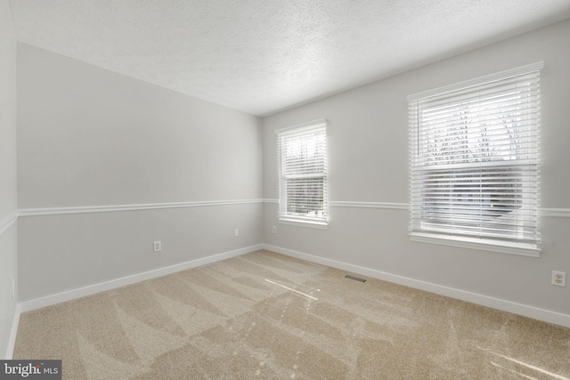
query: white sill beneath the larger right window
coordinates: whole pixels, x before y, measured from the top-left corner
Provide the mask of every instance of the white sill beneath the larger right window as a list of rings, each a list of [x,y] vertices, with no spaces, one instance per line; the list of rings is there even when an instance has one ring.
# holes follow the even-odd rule
[[[410,240],[417,241],[419,243],[478,249],[481,251],[491,251],[509,255],[522,255],[529,257],[541,256],[541,249],[539,247],[515,242],[497,242],[493,240],[442,236],[428,233],[411,233]]]

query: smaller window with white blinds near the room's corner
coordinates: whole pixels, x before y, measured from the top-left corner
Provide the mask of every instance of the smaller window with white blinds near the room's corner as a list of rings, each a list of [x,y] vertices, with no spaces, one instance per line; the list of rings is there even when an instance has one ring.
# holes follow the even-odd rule
[[[326,127],[322,119],[276,131],[281,222],[327,225]]]

